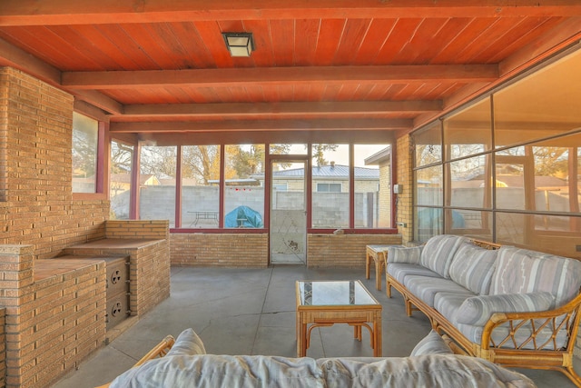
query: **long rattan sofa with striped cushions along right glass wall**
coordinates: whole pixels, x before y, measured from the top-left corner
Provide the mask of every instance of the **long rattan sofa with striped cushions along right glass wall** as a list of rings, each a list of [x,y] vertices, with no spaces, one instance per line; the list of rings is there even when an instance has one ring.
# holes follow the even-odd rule
[[[388,296],[393,287],[408,315],[428,315],[456,353],[558,370],[581,386],[573,369],[581,262],[444,234],[422,246],[390,247],[386,277]]]

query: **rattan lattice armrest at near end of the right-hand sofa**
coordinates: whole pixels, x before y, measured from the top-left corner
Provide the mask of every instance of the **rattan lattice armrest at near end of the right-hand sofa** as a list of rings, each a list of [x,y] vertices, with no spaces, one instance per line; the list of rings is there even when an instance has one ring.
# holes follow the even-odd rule
[[[533,346],[536,350],[560,351],[574,346],[579,326],[579,309],[581,308],[581,294],[575,299],[554,310],[527,313],[493,313],[484,327],[482,333],[482,349],[512,348],[521,349],[525,346]],[[510,330],[503,338],[496,340],[495,335],[500,327],[509,327]],[[523,338],[523,332],[531,331]],[[552,332],[546,341],[538,341],[541,331]],[[566,341],[559,345],[556,341],[558,334],[566,333]],[[519,337],[519,338],[517,338]]]

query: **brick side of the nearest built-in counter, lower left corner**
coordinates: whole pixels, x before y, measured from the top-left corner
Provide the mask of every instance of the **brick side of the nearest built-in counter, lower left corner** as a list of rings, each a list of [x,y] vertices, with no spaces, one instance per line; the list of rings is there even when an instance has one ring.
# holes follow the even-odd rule
[[[103,344],[105,266],[91,262],[34,282],[34,247],[0,247],[6,386],[44,387]]]

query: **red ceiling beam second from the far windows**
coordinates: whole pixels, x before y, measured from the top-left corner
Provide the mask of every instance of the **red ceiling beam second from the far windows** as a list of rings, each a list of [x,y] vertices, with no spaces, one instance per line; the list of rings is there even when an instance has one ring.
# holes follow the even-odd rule
[[[387,114],[440,112],[437,101],[354,101],[293,103],[225,103],[225,104],[133,104],[125,105],[123,118],[188,117],[215,118],[227,116],[260,116],[304,114]],[[115,116],[112,117],[114,121]]]

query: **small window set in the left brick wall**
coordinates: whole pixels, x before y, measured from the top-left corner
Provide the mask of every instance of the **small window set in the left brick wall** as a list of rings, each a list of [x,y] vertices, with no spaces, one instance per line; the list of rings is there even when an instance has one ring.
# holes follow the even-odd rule
[[[73,193],[97,193],[99,122],[73,113]]]

